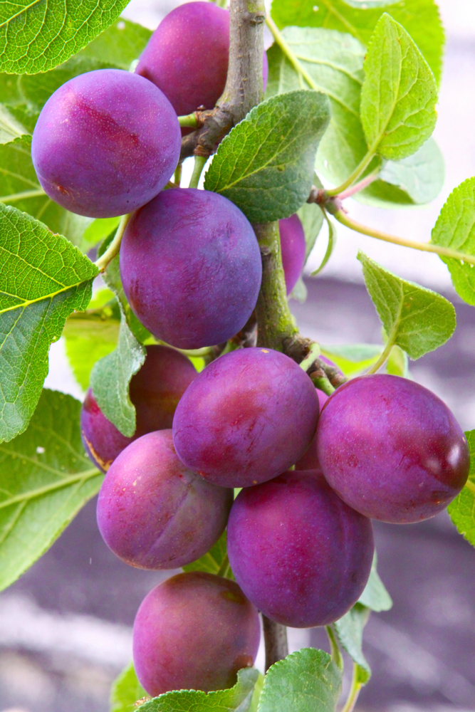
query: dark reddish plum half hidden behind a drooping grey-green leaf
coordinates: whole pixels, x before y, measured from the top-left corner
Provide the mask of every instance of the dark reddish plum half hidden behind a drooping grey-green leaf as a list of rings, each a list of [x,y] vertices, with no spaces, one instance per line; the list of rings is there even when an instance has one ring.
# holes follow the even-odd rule
[[[178,401],[197,372],[186,356],[167,346],[147,346],[145,362],[132,376],[129,393],[137,427],[132,437],[122,435],[100,410],[88,390],[80,414],[83,445],[95,466],[106,472],[133,440],[154,430],[171,428]]]

